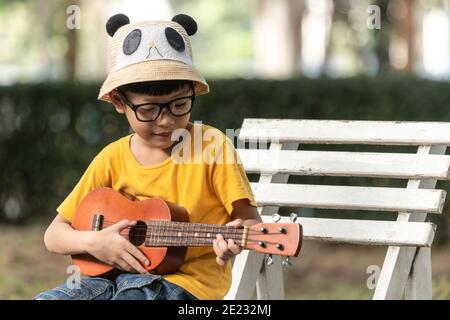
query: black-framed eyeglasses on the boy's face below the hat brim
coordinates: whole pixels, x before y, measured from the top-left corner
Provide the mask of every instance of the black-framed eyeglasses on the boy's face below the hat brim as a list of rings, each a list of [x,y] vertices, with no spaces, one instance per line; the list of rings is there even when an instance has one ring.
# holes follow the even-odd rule
[[[159,115],[161,114],[164,108],[167,108],[170,114],[175,117],[184,116],[189,112],[191,112],[195,100],[195,91],[193,85],[192,85],[193,93],[191,96],[176,98],[166,103],[152,102],[152,103],[133,104],[132,102],[130,102],[130,100],[128,100],[125,93],[123,93],[118,89],[117,92],[119,92],[125,104],[129,106],[131,110],[134,111],[134,113],[136,114],[136,118],[142,122],[155,121],[156,119],[158,119]]]

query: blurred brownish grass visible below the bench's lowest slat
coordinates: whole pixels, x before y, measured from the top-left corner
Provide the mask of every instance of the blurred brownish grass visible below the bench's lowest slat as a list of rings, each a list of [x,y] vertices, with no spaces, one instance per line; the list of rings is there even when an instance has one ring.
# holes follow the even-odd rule
[[[305,242],[285,270],[287,299],[372,299],[369,266],[383,266],[386,247]],[[450,299],[449,247],[432,250],[433,299]]]

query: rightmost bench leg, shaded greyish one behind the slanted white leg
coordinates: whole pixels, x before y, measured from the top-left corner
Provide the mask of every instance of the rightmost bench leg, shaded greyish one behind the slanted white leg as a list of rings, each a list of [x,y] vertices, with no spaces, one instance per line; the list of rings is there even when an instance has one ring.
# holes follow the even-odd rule
[[[407,300],[431,300],[431,248],[418,248],[405,289]]]

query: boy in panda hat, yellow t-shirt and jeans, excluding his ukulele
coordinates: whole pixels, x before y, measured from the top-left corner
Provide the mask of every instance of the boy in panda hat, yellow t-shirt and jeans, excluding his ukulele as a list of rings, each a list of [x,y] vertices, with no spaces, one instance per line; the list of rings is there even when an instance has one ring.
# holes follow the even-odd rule
[[[187,15],[172,21],[130,24],[125,15],[106,25],[113,38],[112,71],[100,100],[124,114],[133,134],[105,147],[92,161],[70,195],[57,208],[44,241],[51,252],[89,253],[124,271],[116,279],[81,279],[80,288],[62,285],[36,299],[222,299],[229,289],[229,260],[240,252],[233,240],[217,235],[213,247],[189,248],[178,272],[149,274],[146,257],[119,232],[136,221],[121,221],[98,232],[76,231],[71,220],[79,202],[92,190],[110,187],[133,200],[160,197],[187,209],[191,222],[241,226],[260,222],[256,203],[242,165],[223,163],[230,154],[238,159],[230,141],[217,129],[189,122],[196,96],[209,92],[204,78],[192,65],[189,36],[197,25]],[[184,137],[173,139],[184,130]],[[223,138],[201,146],[213,150],[215,161],[192,161],[179,152],[198,146],[200,133]],[[193,139],[192,139],[193,138]],[[183,146],[183,148],[179,148]],[[197,146],[197,150],[196,150]],[[185,156],[188,157],[185,157]],[[219,161],[218,161],[219,160]]]

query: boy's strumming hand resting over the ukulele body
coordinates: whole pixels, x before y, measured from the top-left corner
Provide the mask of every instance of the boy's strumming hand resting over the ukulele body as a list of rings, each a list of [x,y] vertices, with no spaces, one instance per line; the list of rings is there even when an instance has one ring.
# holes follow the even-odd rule
[[[122,220],[101,231],[93,232],[87,252],[122,271],[147,274],[148,271],[142,267],[149,265],[147,257],[120,235],[120,231],[135,224],[136,221]]]

